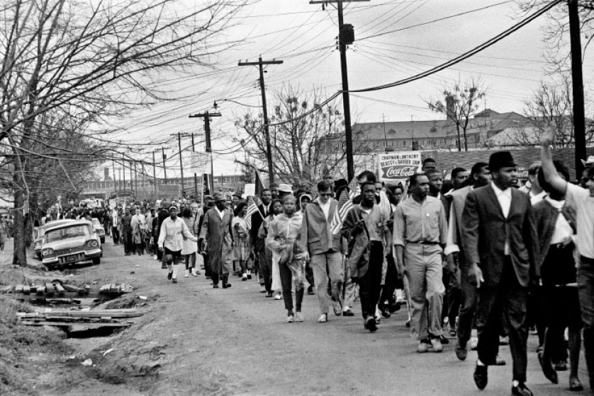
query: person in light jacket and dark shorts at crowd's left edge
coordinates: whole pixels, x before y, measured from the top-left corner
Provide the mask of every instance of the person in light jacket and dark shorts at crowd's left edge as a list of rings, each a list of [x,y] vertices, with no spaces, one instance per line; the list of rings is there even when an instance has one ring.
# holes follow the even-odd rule
[[[159,250],[163,250],[164,261],[167,263],[167,279],[172,283],[177,283],[177,268],[179,266],[179,259],[181,257],[181,247],[184,245],[184,238],[198,242],[186,223],[177,217],[177,207],[169,207],[169,217],[164,219],[161,224],[161,231],[159,232]]]

